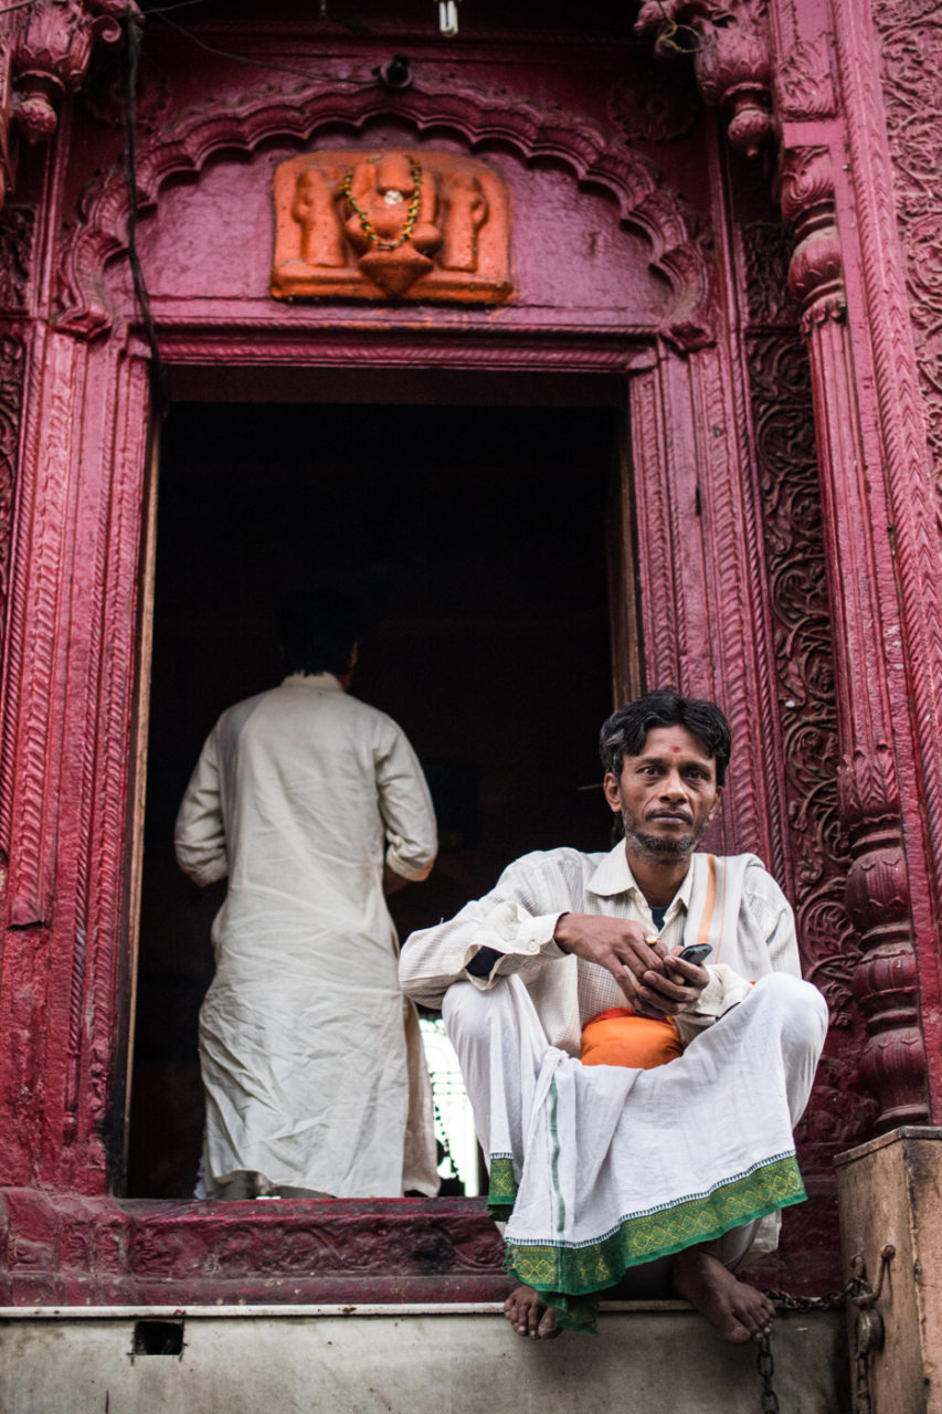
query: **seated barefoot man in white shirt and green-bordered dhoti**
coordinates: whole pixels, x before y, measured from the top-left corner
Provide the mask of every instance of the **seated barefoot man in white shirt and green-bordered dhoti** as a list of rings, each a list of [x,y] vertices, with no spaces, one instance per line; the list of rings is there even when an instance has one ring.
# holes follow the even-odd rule
[[[441,1005],[461,1060],[489,1208],[509,1217],[513,1329],[591,1329],[600,1291],[666,1268],[724,1339],[760,1340],[772,1305],[735,1273],[805,1196],[792,1130],[827,1011],[760,861],[694,853],[730,759],[720,708],[649,693],[610,717],[601,752],[624,841],[511,864],[485,898],[412,935],[400,978]],[[679,959],[696,943],[709,964]],[[672,1017],[683,1053],[581,1065],[581,1027],[612,1007]]]

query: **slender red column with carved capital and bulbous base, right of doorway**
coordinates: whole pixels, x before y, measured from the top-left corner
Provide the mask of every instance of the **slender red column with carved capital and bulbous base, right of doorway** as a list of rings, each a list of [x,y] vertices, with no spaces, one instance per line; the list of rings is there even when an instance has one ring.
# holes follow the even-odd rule
[[[861,1073],[880,1100],[878,1127],[925,1121],[926,1058],[919,1027],[909,878],[902,841],[890,656],[900,628],[874,556],[881,488],[866,475],[849,339],[842,245],[827,147],[785,153],[785,221],[795,232],[789,287],[802,307],[812,366],[825,540],[835,626],[842,742],[840,813],[850,836],[847,904],[861,935],[854,994],[867,1042]],[[895,665],[894,665],[895,666]]]

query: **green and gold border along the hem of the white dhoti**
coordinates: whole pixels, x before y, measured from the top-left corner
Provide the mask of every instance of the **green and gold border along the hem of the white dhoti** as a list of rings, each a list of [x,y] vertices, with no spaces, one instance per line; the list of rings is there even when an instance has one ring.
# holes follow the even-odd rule
[[[509,1159],[505,1162],[511,1167]],[[578,1298],[614,1287],[628,1267],[711,1241],[731,1227],[801,1203],[805,1196],[795,1155],[784,1154],[707,1193],[624,1217],[597,1241],[580,1246],[508,1243],[506,1270],[557,1308],[557,1324],[563,1329],[594,1331],[598,1299]]]

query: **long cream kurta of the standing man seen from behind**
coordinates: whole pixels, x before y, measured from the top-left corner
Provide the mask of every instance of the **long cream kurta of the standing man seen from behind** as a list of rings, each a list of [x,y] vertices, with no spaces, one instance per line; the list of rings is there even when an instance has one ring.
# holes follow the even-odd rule
[[[382,891],[383,864],[421,880],[436,855],[400,728],[330,673],[238,703],[202,749],[175,848],[197,884],[229,881],[199,1015],[208,1192],[240,1172],[345,1198],[436,1192]]]

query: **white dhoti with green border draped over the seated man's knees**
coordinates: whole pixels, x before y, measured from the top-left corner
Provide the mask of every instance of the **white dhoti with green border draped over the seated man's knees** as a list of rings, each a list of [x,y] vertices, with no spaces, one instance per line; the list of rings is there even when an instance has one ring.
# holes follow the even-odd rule
[[[506,1217],[508,1270],[560,1324],[639,1264],[716,1241],[730,1268],[774,1249],[769,1215],[805,1198],[792,1130],[827,1029],[785,973],[653,1070],[583,1066],[550,1046],[523,983],[448,988],[443,1015]],[[767,1219],[765,1223],[761,1220]]]

